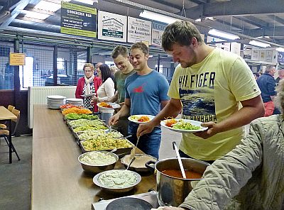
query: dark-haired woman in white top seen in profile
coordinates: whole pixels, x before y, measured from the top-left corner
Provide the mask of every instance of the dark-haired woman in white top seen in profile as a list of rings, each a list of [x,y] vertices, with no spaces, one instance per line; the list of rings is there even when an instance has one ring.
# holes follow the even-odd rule
[[[106,64],[100,65],[97,69],[99,78],[102,79],[102,84],[97,90],[97,96],[93,96],[92,99],[94,104],[97,104],[102,101],[109,101],[109,99],[114,96],[114,76],[111,74],[109,66]],[[106,122],[109,121],[109,117],[114,114],[114,109],[104,109],[99,107],[99,111],[102,112],[102,119]]]

